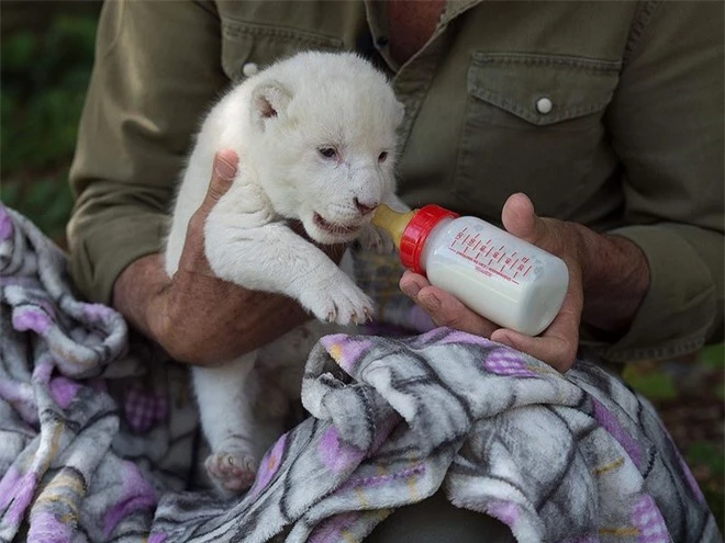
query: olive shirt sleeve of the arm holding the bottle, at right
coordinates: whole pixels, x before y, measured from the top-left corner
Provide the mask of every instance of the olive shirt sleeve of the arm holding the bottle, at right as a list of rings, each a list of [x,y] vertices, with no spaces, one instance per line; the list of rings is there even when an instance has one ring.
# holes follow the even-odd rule
[[[607,123],[650,287],[614,361],[693,352],[723,331],[723,3],[645,2]]]

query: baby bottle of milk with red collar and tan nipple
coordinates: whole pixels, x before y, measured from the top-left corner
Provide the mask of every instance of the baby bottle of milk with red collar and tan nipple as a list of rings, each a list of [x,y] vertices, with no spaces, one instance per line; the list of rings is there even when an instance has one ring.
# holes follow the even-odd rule
[[[438,205],[409,213],[380,205],[372,224],[390,235],[405,268],[499,326],[537,336],[561,308],[567,264],[484,220]]]

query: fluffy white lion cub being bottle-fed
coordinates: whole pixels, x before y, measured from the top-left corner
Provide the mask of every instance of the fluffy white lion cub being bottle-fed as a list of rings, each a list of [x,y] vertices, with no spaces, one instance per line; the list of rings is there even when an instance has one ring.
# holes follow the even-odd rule
[[[301,222],[320,244],[359,239],[368,248],[391,249],[369,219],[381,202],[405,208],[393,193],[402,117],[384,76],[354,54],[302,53],[232,89],[204,120],[183,174],[166,248],[169,276],[207,192],[213,156],[230,148],[239,155],[239,169],[204,230],[214,273],[291,296],[320,320],[365,321],[371,301],[324,252],[294,234],[289,220]],[[293,330],[221,366],[193,369],[212,451],[205,467],[220,490],[248,488],[260,455],[281,431],[279,406],[266,405],[267,392],[257,395],[257,374],[283,364],[294,376],[288,392],[299,397],[306,353],[297,349],[297,360],[277,359],[289,357],[294,351],[289,343],[303,336]],[[305,346],[309,350],[311,341]]]

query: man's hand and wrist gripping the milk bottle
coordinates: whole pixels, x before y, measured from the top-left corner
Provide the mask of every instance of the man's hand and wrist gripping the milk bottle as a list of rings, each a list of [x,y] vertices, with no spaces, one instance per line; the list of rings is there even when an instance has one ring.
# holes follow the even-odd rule
[[[561,310],[542,336],[532,338],[500,328],[410,271],[400,280],[401,290],[436,325],[491,338],[560,372],[573,364],[582,310],[591,325],[606,332],[626,330],[649,286],[647,262],[638,247],[625,238],[600,235],[582,225],[538,217],[524,194],[509,197],[501,218],[507,231],[558,256],[569,269],[569,289]]]

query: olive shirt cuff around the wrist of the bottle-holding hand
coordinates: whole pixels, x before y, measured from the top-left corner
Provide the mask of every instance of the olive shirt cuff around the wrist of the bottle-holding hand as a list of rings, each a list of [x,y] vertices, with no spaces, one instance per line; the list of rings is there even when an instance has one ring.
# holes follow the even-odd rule
[[[582,346],[613,362],[670,359],[700,349],[715,318],[715,284],[700,254],[666,226],[628,226],[610,234],[643,250],[649,290],[624,336],[607,342],[584,325]]]

